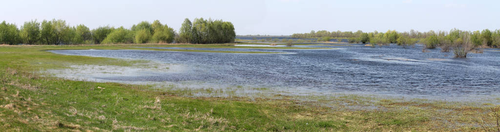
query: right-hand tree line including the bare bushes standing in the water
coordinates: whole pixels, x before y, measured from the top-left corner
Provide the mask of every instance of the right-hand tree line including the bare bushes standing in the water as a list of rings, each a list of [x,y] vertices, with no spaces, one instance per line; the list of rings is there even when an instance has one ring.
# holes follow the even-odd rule
[[[371,46],[386,45],[394,43],[397,45],[423,44],[422,51],[428,48],[440,47],[442,52],[453,50],[455,57],[466,57],[467,53],[480,47],[500,47],[500,29],[491,31],[464,31],[451,29],[450,31],[427,31],[419,32],[397,32],[387,30],[386,32],[328,32],[325,30],[311,31],[310,33],[295,33],[292,37],[307,38],[319,37],[318,41],[329,40],[331,37],[347,37],[349,43],[369,43]]]

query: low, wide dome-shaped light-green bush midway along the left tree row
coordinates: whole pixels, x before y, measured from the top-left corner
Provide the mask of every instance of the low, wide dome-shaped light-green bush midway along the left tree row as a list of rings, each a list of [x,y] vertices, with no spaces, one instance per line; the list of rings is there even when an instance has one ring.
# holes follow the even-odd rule
[[[107,30],[107,29],[106,29]],[[144,30],[147,32],[146,30]],[[101,43],[132,43],[134,33],[131,30],[122,27],[113,29],[111,33],[106,35],[106,38]]]

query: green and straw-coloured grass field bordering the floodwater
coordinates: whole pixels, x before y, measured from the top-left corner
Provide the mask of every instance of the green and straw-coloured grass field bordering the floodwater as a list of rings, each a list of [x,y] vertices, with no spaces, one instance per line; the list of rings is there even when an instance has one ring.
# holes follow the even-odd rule
[[[490,103],[398,100],[357,95],[311,97],[313,101],[285,95],[272,98],[192,98],[182,96],[185,93],[161,91],[147,85],[72,81],[42,76],[38,72],[67,68],[68,64],[132,66],[146,62],[58,55],[45,50],[163,50],[136,47],[262,48],[217,44],[2,45],[0,130],[481,132],[493,129],[495,125],[493,112],[496,106]],[[500,99],[493,102],[498,101]]]

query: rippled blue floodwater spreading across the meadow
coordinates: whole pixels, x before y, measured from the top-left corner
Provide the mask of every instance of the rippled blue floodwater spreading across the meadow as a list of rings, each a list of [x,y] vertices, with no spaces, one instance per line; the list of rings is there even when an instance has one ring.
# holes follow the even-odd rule
[[[248,45],[246,45],[248,46]],[[298,45],[297,45],[298,46]],[[148,50],[52,50],[63,55],[146,59],[183,66],[176,72],[104,76],[110,81],[205,82],[328,93],[366,93],[418,98],[492,97],[500,93],[500,51],[468,58],[421,47],[301,46],[334,49],[217,49],[287,54],[203,53]]]

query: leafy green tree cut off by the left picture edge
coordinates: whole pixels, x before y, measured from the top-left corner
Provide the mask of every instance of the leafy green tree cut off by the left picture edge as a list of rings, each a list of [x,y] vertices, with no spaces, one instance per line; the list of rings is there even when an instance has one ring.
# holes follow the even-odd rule
[[[17,44],[21,40],[19,30],[15,24],[0,23],[0,44]]]

